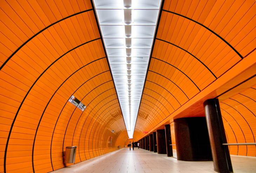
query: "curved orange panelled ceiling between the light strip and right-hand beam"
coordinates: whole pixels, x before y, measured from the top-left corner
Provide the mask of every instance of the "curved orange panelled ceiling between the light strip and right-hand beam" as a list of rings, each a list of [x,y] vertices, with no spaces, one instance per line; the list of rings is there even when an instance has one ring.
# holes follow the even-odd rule
[[[164,0],[135,138],[174,117],[177,109],[254,51],[255,23],[253,0]]]

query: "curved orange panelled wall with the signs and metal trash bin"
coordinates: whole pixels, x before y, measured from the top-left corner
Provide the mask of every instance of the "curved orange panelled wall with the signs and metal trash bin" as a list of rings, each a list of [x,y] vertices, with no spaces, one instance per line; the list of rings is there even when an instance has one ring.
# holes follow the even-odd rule
[[[0,8],[0,172],[59,169],[69,145],[78,146],[76,163],[116,150],[126,127],[92,3]]]

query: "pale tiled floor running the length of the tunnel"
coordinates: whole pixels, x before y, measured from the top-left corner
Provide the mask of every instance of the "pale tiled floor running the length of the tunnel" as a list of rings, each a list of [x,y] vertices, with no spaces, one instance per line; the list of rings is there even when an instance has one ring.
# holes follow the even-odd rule
[[[175,152],[175,150],[174,150]],[[174,153],[175,155],[176,153]],[[231,156],[234,173],[256,173],[256,157]],[[166,154],[128,148],[71,165],[53,173],[216,173],[212,161],[178,161]]]

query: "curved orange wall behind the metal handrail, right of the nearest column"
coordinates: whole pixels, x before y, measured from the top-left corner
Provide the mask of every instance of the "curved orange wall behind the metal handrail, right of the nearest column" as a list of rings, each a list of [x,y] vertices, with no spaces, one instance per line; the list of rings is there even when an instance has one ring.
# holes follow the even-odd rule
[[[256,85],[220,102],[228,143],[255,143]],[[229,146],[230,154],[256,156],[255,145]]]

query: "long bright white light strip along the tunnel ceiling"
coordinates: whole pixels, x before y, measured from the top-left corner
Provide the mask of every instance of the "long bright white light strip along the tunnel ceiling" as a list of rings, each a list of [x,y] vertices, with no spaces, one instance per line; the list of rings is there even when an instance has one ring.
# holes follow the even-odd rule
[[[94,0],[129,138],[133,138],[161,0]]]

